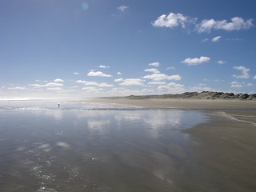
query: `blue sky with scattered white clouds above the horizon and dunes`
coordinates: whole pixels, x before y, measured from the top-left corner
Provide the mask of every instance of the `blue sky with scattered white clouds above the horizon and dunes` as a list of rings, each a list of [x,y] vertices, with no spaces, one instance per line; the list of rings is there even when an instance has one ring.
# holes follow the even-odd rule
[[[0,99],[256,93],[255,0],[1,0]]]

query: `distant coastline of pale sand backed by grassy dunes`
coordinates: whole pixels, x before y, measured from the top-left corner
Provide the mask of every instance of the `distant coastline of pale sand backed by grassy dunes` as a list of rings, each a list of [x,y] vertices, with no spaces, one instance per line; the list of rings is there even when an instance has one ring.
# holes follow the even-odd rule
[[[80,100],[112,106],[131,106],[150,109],[186,110],[256,110],[256,94],[233,94],[203,91],[183,94],[130,95]]]

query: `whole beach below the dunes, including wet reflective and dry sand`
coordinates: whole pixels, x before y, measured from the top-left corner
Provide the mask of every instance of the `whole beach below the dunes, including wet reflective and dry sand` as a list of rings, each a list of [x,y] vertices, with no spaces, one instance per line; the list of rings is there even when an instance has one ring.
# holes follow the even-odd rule
[[[0,190],[256,190],[254,102],[124,100],[2,102]]]

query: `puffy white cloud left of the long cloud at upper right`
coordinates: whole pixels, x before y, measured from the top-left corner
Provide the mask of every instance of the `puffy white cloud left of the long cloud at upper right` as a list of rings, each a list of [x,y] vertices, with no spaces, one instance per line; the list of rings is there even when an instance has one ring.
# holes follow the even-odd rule
[[[182,28],[186,27],[186,22],[189,22],[189,19],[183,14],[174,14],[170,13],[168,15],[162,14],[155,20],[152,25],[158,27],[169,27],[174,28],[176,26],[182,26]]]

